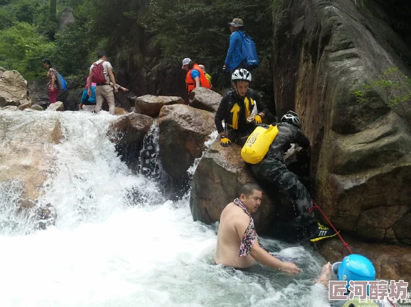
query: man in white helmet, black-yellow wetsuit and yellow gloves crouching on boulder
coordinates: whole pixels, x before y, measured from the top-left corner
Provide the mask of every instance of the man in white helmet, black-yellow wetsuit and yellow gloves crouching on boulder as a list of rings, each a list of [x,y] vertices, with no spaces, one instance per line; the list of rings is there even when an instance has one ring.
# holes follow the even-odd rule
[[[231,142],[244,145],[255,124],[261,124],[268,113],[268,108],[261,97],[250,89],[251,73],[239,68],[231,75],[232,89],[224,95],[214,122],[220,136],[221,146],[227,147]],[[225,122],[225,129],[221,121]]]

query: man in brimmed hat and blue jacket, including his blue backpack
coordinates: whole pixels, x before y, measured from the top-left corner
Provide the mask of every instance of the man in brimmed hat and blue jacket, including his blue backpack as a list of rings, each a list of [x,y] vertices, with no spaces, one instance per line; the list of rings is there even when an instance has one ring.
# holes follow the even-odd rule
[[[228,47],[223,71],[232,74],[237,68],[247,68],[252,71],[259,65],[254,41],[242,29],[244,22],[240,18],[232,19],[230,25],[230,46]]]

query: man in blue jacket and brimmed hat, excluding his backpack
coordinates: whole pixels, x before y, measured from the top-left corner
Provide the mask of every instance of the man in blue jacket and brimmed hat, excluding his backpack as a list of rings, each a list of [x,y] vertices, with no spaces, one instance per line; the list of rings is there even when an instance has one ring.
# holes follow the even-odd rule
[[[244,32],[241,30],[244,27],[242,19],[235,18],[230,25],[230,46],[228,47],[226,61],[224,62],[223,71],[232,73],[237,68],[244,68],[243,55],[241,55],[241,47],[243,44]]]

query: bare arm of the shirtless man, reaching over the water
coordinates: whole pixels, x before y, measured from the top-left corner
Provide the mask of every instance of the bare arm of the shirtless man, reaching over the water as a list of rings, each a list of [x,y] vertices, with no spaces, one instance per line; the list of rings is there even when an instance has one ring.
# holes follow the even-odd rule
[[[237,230],[240,240],[243,239],[244,232],[246,232],[247,230],[249,221],[250,220],[248,216],[244,214],[241,215],[241,217],[239,217],[237,219],[237,222],[235,223],[235,229]],[[261,263],[263,266],[286,271],[291,275],[295,275],[300,272],[300,269],[298,268],[298,266],[295,266],[294,263],[278,260],[272,254],[261,248],[259,246],[257,238],[254,241],[253,247],[251,248],[250,256],[253,257],[257,262]]]

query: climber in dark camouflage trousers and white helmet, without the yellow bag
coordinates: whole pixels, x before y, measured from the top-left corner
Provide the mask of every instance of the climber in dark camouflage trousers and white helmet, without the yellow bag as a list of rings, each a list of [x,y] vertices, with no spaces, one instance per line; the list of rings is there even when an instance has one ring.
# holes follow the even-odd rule
[[[300,131],[301,120],[297,113],[288,111],[277,124],[278,134],[268,149],[266,156],[250,169],[259,180],[264,180],[288,196],[289,200],[298,210],[303,225],[310,232],[310,241],[315,242],[336,236],[336,232],[329,227],[318,223],[313,214],[309,214],[309,207],[313,205],[311,196],[298,177],[284,164],[284,153],[291,148],[291,143],[296,143],[302,150],[309,150],[310,141]]]

